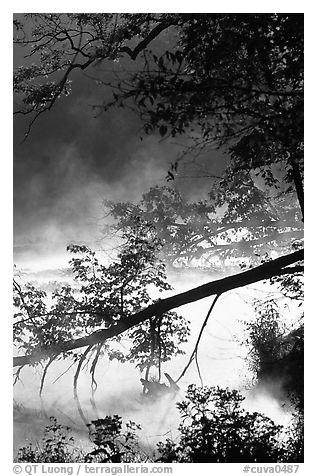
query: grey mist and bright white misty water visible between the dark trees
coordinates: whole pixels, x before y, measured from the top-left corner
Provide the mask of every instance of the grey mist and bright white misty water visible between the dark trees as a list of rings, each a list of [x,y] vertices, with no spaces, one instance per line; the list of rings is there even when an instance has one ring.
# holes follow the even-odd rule
[[[21,57],[17,55],[15,59],[19,64]],[[127,110],[112,110],[94,118],[89,104],[104,99],[103,94],[94,82],[83,76],[75,77],[72,95],[43,115],[25,142],[21,139],[27,119],[15,116],[14,262],[23,270],[24,281],[37,280],[41,285],[59,280],[69,282],[71,278],[65,270],[70,257],[65,249],[70,243],[85,243],[100,252],[111,248],[101,237],[106,223],[102,201],[136,202],[150,187],[166,185],[169,164],[182,150],[181,139],[176,144],[153,135],[141,141],[140,121]],[[200,168],[204,161],[208,162],[210,174],[219,175],[224,169],[225,157],[219,151],[202,155]],[[189,162],[189,167],[182,171],[187,177],[196,170],[193,162]],[[169,185],[187,199],[199,200],[206,198],[212,181],[183,177]],[[174,289],[160,297],[217,278],[198,270],[169,272]],[[291,416],[281,402],[265,389],[251,388],[253,375],[246,362],[248,349],[241,345],[242,321],[253,316],[252,300],[265,298],[267,291],[266,285],[258,284],[220,297],[199,345],[199,366],[204,385],[238,389],[246,396],[245,407],[250,411],[261,411],[277,423],[287,424]],[[162,374],[168,372],[175,380],[181,374],[212,300],[211,296],[177,309],[190,321],[191,335],[183,346],[185,354],[164,363]],[[290,327],[295,315],[292,308],[285,309]],[[51,365],[42,398],[39,389],[43,367],[23,368],[14,387],[14,451],[28,441],[38,441],[51,415],[59,423],[70,426],[82,445],[87,445],[85,425],[73,398],[76,366],[63,375],[69,365],[68,361]],[[179,413],[175,402],[182,400],[189,384],[200,385],[200,379],[193,362],[180,380],[180,392],[174,399],[164,397],[151,402],[142,397],[141,376],[132,364],[109,362],[104,357],[96,369],[98,413],[90,401],[89,366],[80,375],[78,396],[88,420],[119,414],[124,421],[140,423],[144,445],[150,449],[157,441],[176,434]],[[277,388],[275,396],[278,394]]]

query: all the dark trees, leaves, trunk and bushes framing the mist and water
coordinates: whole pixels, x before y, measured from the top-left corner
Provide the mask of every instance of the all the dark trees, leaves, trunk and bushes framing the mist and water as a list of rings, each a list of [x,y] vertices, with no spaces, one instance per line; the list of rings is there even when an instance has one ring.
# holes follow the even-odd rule
[[[255,320],[246,324],[258,385],[282,383],[294,404],[291,428],[243,410],[235,390],[190,386],[178,403],[179,439],[160,443],[154,457],[144,454],[137,426],[123,430],[113,416],[91,422],[90,453],[72,448],[54,420],[42,445],[21,449],[17,461],[302,461],[303,16],[29,14],[14,24],[15,43],[32,62],[14,76],[15,114],[29,118],[26,140],[38,118],[71,94],[70,80],[90,71],[113,94],[96,114],[132,109],[143,134],[181,136],[185,144],[167,171],[170,186],[145,191],[139,203],[105,202],[112,224],[104,234],[115,236],[119,249],[113,262],[71,245],[75,285],[59,286],[50,306],[44,291],[15,277],[16,378],[44,361],[42,391],[48,367],[73,359],[80,410],[78,376],[89,362],[96,386],[101,356],[135,362],[145,381],[153,371],[160,382],[162,363],[183,352],[189,335],[174,311],[181,305],[271,280],[299,308],[297,327],[286,329],[268,297],[255,303]],[[103,63],[113,67],[110,80],[98,70]],[[215,148],[226,157],[221,176],[206,161]],[[193,157],[210,179],[200,201],[174,187],[186,173],[194,180]],[[153,299],[151,289],[171,290],[166,267],[198,267],[219,279]],[[126,353],[118,346],[123,334],[131,341]]]

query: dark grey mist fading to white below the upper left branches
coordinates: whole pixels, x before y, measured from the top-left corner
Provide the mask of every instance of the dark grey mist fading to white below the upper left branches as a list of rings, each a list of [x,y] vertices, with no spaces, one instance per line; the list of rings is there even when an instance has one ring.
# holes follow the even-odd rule
[[[15,50],[15,66],[25,63],[22,52]],[[91,69],[87,74],[100,72]],[[14,119],[18,260],[25,254],[32,257],[33,251],[38,256],[43,244],[45,252],[51,252],[69,241],[95,239],[102,224],[102,200],[137,200],[150,186],[166,185],[169,163],[182,151],[174,143],[181,139],[161,141],[153,135],[141,140],[141,123],[126,109],[112,109],[95,118],[91,105],[110,97],[110,90],[82,73],[72,79],[72,94],[40,116],[24,142],[29,118]],[[218,157],[219,153],[212,154],[215,172],[221,162]],[[206,184],[182,180],[172,186],[195,197]]]

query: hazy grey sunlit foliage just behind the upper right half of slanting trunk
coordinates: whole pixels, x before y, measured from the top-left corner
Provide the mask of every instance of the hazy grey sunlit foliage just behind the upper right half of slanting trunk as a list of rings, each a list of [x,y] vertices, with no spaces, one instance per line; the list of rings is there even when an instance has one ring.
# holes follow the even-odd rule
[[[116,220],[106,234],[122,233],[137,215],[153,225],[173,265],[197,264],[209,269],[259,264],[267,253],[287,252],[302,239],[302,223],[294,197],[270,199],[249,176],[237,173],[213,187],[206,200],[188,202],[172,187],[153,187],[139,203],[105,201]],[[286,278],[285,278],[286,279]]]

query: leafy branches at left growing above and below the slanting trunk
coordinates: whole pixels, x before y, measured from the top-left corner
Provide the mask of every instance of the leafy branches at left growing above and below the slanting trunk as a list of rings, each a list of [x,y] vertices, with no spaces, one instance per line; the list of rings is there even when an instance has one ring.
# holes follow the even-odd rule
[[[171,289],[165,266],[157,258],[161,244],[153,228],[135,217],[122,238],[124,245],[109,265],[100,263],[87,246],[69,246],[75,255],[70,265],[77,285],[58,288],[52,294],[50,307],[45,304],[46,293],[31,285],[22,289],[15,283],[14,330],[20,349],[26,354],[38,349],[54,355],[63,342],[111,328],[154,303],[150,296],[153,290]],[[179,346],[186,342],[188,334],[186,320],[170,311],[131,330],[127,334],[131,347],[125,353],[118,347],[118,336],[99,346],[98,355],[107,352],[110,358],[136,362],[141,369],[158,366],[181,352]],[[72,356],[79,358],[78,353]]]

